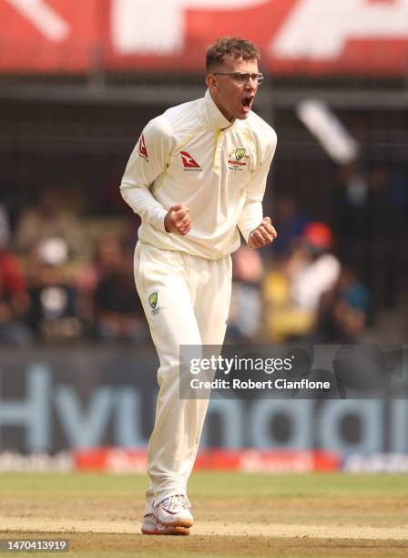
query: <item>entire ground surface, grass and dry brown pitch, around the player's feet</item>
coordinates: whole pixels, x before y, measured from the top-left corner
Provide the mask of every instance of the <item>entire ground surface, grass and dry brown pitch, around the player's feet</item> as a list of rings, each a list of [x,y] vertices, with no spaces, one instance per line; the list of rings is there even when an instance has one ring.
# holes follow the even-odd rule
[[[144,475],[0,474],[0,538],[67,538],[71,554],[88,558],[408,555],[407,476],[196,473],[189,537],[139,534],[146,483]]]

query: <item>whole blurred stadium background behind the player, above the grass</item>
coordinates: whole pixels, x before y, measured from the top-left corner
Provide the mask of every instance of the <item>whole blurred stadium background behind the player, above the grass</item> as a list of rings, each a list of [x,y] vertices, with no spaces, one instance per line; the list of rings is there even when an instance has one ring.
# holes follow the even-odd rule
[[[279,137],[264,206],[282,241],[236,256],[229,341],[406,338],[407,3],[326,1],[332,16],[320,0],[155,4],[0,2],[1,254],[18,259],[8,290],[5,268],[0,282],[4,470],[71,466],[65,450],[78,452],[76,467],[143,468],[157,363],[131,278],[137,217],[118,185],[148,119],[204,93],[203,54],[217,36],[260,46],[268,78],[255,109]],[[356,9],[359,25],[345,25]],[[338,40],[331,51],[324,27]],[[302,123],[299,103],[316,99],[357,142],[356,157],[336,160]],[[50,199],[75,220],[62,247],[33,222],[21,232]],[[305,235],[313,222],[332,241]],[[292,296],[291,264],[306,248],[334,254],[342,270],[312,308]],[[202,466],[408,469],[404,399],[213,403],[202,448],[230,453]],[[99,450],[112,447],[132,451]],[[242,448],[260,451],[242,458]]]

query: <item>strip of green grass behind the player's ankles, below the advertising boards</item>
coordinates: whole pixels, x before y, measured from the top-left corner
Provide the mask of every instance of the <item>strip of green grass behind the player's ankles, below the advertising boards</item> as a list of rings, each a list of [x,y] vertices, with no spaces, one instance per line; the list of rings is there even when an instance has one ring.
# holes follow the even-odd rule
[[[107,473],[0,473],[0,492],[56,494],[89,492],[106,497],[129,498],[143,495],[146,475],[114,475]],[[386,474],[252,474],[230,472],[198,472],[189,481],[193,498],[230,498],[257,496],[341,496],[349,494],[386,494],[407,496],[408,477]]]

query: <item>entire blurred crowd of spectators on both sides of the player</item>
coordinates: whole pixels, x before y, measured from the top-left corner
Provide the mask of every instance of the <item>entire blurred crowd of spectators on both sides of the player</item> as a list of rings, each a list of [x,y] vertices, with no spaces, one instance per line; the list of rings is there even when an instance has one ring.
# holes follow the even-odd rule
[[[0,205],[0,343],[148,342],[132,267],[138,218],[124,215],[92,231],[56,188],[43,189],[13,226]],[[277,240],[233,254],[227,340],[358,342],[372,296],[336,253],[335,231],[285,193],[271,215]]]

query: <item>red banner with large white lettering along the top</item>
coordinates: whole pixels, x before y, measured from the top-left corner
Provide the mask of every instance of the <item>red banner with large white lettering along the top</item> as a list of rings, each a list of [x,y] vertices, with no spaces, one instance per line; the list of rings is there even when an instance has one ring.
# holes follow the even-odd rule
[[[279,74],[408,71],[408,0],[0,0],[0,71],[204,71],[245,36]]]

